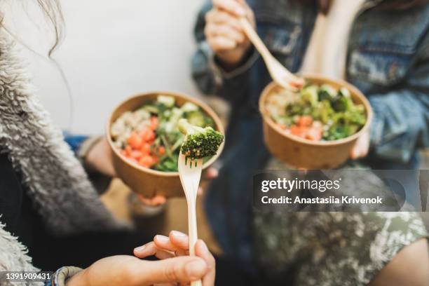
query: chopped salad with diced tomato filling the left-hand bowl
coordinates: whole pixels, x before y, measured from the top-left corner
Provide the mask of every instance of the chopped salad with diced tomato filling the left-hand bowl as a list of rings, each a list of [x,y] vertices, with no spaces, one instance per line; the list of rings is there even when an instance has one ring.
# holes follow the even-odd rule
[[[178,126],[182,118],[200,128],[216,127],[213,119],[196,104],[185,102],[179,106],[175,97],[158,95],[156,100],[145,102],[139,109],[125,112],[116,119],[111,128],[112,139],[121,154],[133,163],[163,172],[177,172],[185,138]],[[210,156],[203,161],[209,159]]]

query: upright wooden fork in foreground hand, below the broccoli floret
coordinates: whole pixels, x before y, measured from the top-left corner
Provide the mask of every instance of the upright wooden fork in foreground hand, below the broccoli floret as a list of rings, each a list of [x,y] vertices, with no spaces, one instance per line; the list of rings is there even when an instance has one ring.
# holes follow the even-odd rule
[[[203,159],[189,160],[180,152],[177,162],[180,182],[188,204],[189,254],[195,256],[195,244],[198,240],[196,223],[196,196],[200,184]],[[201,280],[191,282],[191,286],[201,286]]]

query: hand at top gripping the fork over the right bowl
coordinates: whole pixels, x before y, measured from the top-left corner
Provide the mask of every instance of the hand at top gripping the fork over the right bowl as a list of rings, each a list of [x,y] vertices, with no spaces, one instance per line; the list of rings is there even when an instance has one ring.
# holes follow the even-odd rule
[[[233,68],[250,48],[241,17],[255,26],[254,13],[245,0],[213,0],[212,10],[205,15],[205,38],[225,67]]]

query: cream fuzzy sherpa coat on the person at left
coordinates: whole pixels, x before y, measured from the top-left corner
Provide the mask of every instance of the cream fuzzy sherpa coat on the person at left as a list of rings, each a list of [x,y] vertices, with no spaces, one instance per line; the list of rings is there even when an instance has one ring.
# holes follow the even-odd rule
[[[123,229],[41,106],[19,55],[18,43],[0,29],[0,147],[22,174],[34,207],[58,236]],[[0,271],[35,270],[26,252],[0,223]]]

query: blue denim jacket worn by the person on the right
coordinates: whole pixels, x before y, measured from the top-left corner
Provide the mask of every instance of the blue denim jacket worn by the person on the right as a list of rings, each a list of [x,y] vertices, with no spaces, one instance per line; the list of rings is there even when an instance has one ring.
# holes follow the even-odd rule
[[[353,22],[346,80],[367,96],[374,109],[367,163],[373,168],[415,168],[417,149],[429,146],[429,5],[385,11],[377,9],[380,2],[366,1]],[[291,71],[299,71],[318,13],[315,5],[297,0],[247,3],[271,53]],[[204,93],[228,100],[232,112],[224,167],[208,193],[207,212],[226,253],[249,258],[249,248],[242,245],[251,211],[251,196],[245,192],[252,172],[269,158],[257,104],[271,79],[254,52],[233,71],[219,67],[203,33],[210,8],[207,2],[196,23],[193,77]],[[234,238],[226,238],[226,232],[234,233]]]

